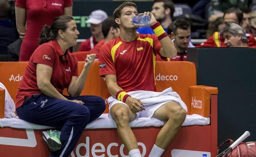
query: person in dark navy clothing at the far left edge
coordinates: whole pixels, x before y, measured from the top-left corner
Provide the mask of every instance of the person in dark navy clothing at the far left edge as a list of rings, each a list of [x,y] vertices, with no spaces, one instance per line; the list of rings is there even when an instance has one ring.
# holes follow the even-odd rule
[[[0,0],[0,61],[7,61],[7,46],[18,39],[18,32],[10,17],[9,1]]]

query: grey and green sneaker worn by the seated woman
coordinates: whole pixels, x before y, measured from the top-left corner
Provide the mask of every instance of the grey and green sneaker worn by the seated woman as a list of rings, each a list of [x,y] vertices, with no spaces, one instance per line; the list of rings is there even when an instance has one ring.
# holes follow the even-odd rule
[[[48,130],[48,131],[43,131],[42,136],[44,142],[48,145],[51,151],[56,152],[59,150],[62,146],[60,142],[60,131],[58,130]]]

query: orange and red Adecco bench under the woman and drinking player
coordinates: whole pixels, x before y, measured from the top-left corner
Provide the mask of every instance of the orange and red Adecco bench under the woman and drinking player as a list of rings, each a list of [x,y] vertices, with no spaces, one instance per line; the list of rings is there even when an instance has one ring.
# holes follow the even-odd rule
[[[26,65],[27,62],[0,62],[0,71],[2,72],[0,73],[0,82],[5,85],[14,101]],[[83,65],[84,62],[78,63],[79,73],[81,73]],[[98,67],[98,62],[91,66],[81,95],[98,95],[106,100],[110,94],[107,91],[104,78],[98,76]],[[197,86],[196,79],[196,69],[191,62],[156,62],[155,82],[157,91],[162,91],[171,86],[187,105],[187,114],[210,117],[209,125],[181,127],[162,157],[176,157],[176,155],[181,157],[182,154],[184,154],[182,157],[191,157],[196,154],[202,156],[203,153],[210,154],[213,157],[217,155],[217,88]],[[2,108],[0,108],[0,114],[1,110]],[[108,108],[105,113],[108,113]],[[142,154],[149,155],[161,127],[132,129],[137,137]],[[0,128],[0,141],[1,139],[21,139],[27,140],[29,143],[26,146],[20,146],[19,144],[1,144],[0,142],[1,156],[46,157],[49,150],[43,143],[41,131],[9,127]],[[32,137],[36,141],[30,140]],[[85,129],[77,146],[71,153],[71,157],[117,157],[114,155],[121,157],[128,155],[115,128]]]

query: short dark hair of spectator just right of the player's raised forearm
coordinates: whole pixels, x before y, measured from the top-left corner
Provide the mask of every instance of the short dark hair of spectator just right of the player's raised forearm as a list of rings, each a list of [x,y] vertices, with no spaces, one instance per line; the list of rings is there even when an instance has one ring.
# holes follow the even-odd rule
[[[177,29],[190,29],[190,23],[188,23],[184,19],[178,19],[172,22],[168,27],[167,27],[167,34],[171,34],[173,32],[174,34],[177,34]]]

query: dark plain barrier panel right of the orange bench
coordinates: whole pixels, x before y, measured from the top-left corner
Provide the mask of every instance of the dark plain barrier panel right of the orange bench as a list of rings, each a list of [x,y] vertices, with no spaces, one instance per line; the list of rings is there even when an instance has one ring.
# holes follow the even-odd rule
[[[256,139],[256,49],[188,48],[187,60],[197,67],[197,85],[218,88],[218,145],[237,139]]]

